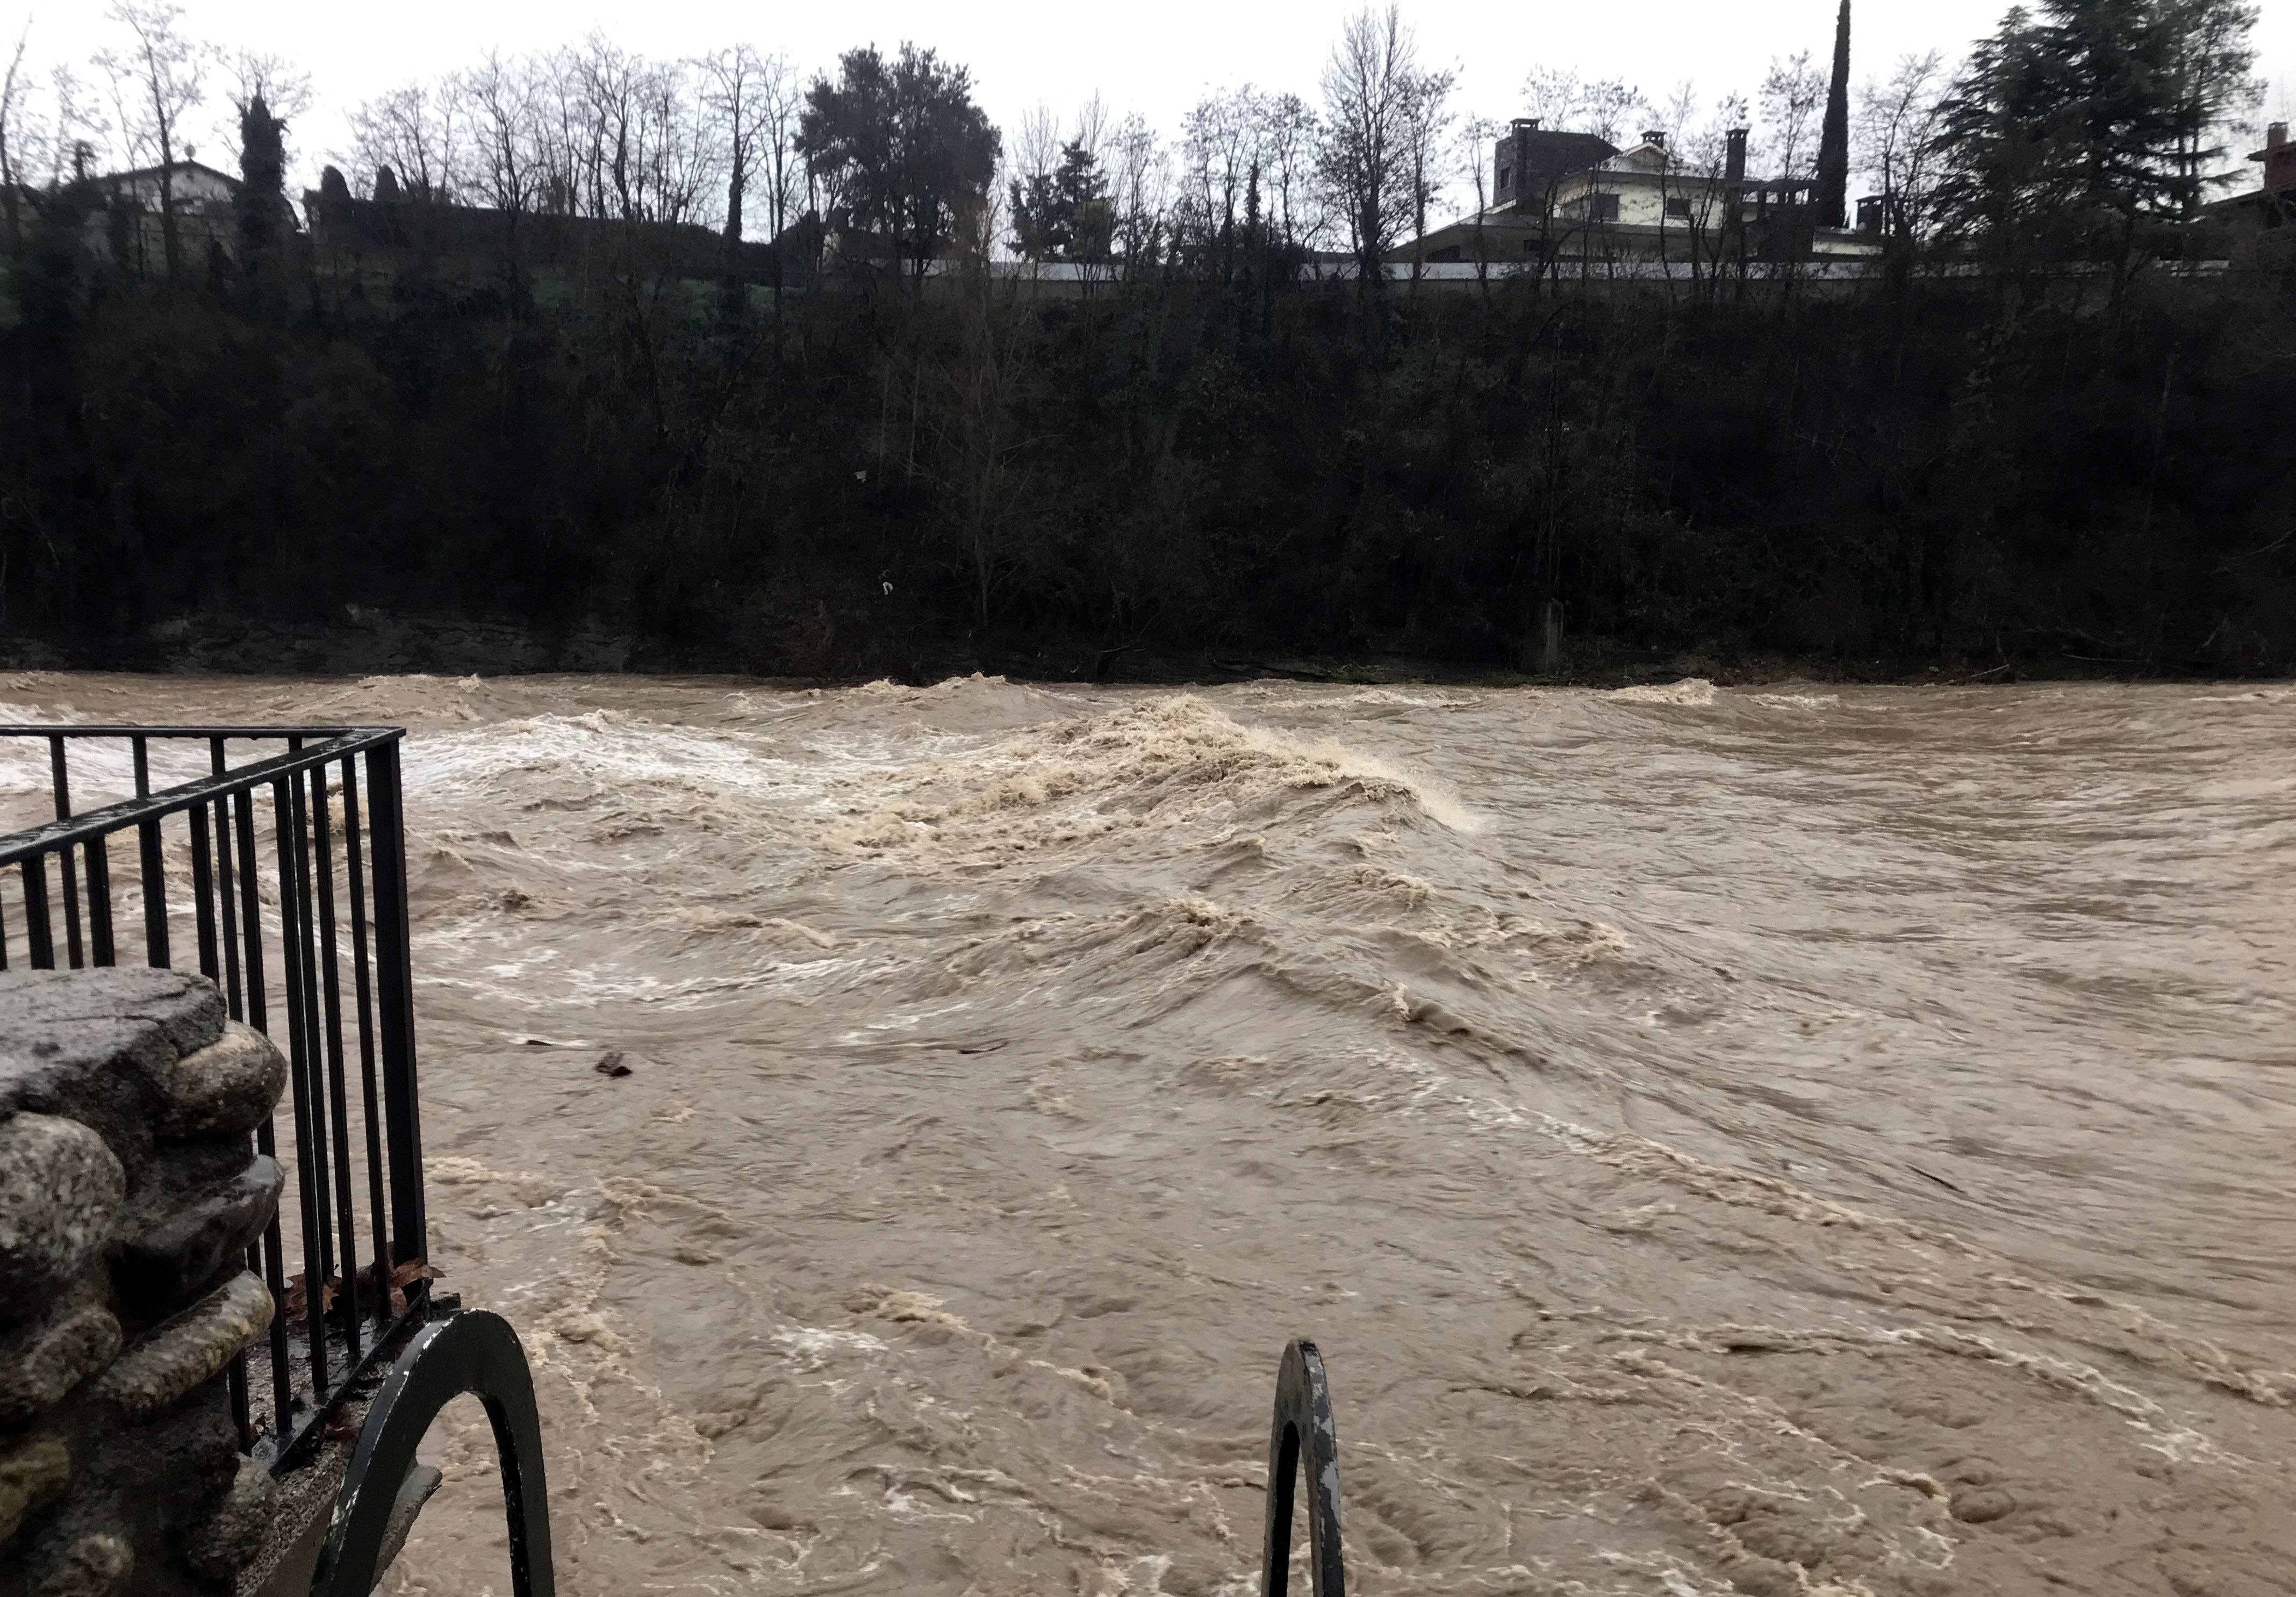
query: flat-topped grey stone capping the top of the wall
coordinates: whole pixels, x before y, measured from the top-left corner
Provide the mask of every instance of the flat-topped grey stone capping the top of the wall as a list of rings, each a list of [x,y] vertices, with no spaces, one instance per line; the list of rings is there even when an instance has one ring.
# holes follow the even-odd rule
[[[168,1072],[220,1035],[223,994],[200,975],[9,971],[0,975],[0,1120],[78,1120],[135,1168],[152,1147]]]

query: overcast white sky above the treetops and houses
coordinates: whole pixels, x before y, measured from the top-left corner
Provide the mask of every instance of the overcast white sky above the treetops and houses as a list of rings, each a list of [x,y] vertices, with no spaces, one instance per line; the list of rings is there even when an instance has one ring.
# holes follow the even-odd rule
[[[974,71],[980,103],[1008,133],[1038,101],[1063,117],[1095,89],[1114,115],[1141,112],[1162,133],[1210,87],[1256,83],[1309,99],[1341,21],[1359,0],[1162,0],[1157,5],[845,5],[760,7],[730,0],[184,0],[188,30],[220,46],[285,55],[310,71],[319,106],[292,128],[298,174],[347,142],[344,110],[413,78],[505,53],[579,39],[597,28],[625,48],[696,55],[748,41],[801,69],[829,64],[854,44],[930,44]],[[1883,76],[1908,50],[1956,57],[1988,32],[2007,0],[1853,0],[1855,78]],[[37,62],[73,60],[106,44],[103,0],[0,0],[0,37],[11,46],[32,18]],[[1690,78],[1706,103],[1752,96],[1773,55],[1832,48],[1835,0],[1642,0],[1621,5],[1492,5],[1407,0],[1405,18],[1428,62],[1460,69],[1458,108],[1506,117],[1534,64],[1626,78],[1662,99]],[[2273,115],[2287,115],[2296,80],[2296,0],[2266,0],[2257,30]],[[220,106],[220,94],[216,94]],[[220,145],[218,151],[220,154]],[[2245,151],[2243,151],[2245,154]]]

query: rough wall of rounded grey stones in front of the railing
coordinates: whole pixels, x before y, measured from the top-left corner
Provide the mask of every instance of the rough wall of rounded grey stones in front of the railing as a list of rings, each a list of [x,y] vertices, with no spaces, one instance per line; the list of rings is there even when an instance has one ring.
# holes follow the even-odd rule
[[[285,1081],[197,975],[0,975],[0,1597],[214,1597],[273,1533],[223,1372]]]

